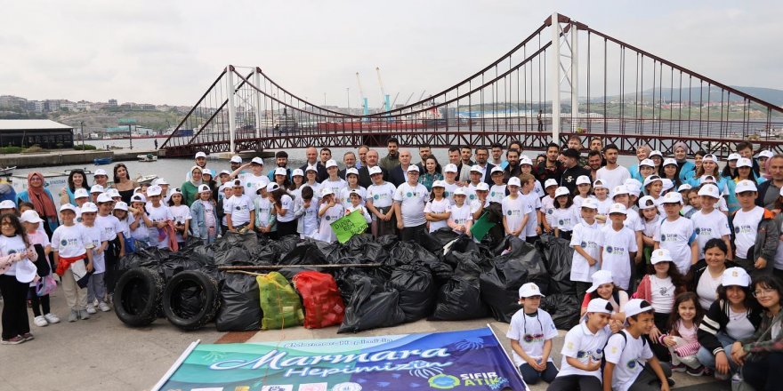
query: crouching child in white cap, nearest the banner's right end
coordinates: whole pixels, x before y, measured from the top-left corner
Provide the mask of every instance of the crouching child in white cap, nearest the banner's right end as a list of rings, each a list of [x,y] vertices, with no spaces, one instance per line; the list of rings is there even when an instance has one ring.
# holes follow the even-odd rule
[[[512,316],[505,334],[511,339],[513,362],[519,367],[522,379],[529,385],[537,384],[539,380],[551,383],[558,372],[550,355],[557,328],[552,316],[539,308],[543,297],[536,283],[522,285],[522,308]]]

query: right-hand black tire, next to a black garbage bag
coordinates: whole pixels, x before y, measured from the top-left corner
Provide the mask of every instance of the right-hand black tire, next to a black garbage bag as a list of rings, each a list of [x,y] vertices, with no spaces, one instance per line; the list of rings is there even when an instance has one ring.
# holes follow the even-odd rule
[[[192,311],[185,308],[182,297],[189,296],[189,305],[197,304]],[[182,330],[193,331],[214,319],[220,307],[217,281],[198,270],[177,273],[165,285],[163,313],[169,322]]]

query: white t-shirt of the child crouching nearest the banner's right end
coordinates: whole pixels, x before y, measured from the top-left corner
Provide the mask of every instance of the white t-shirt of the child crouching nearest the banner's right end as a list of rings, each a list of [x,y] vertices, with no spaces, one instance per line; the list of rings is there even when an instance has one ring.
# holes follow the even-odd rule
[[[545,310],[538,309],[534,316],[529,316],[522,308],[512,316],[505,336],[519,342],[522,350],[531,358],[540,359],[544,356],[544,342],[557,337],[557,328],[554,326],[552,316]],[[516,352],[513,352],[513,361],[516,366],[525,363]],[[550,355],[548,363],[552,362],[552,355]]]

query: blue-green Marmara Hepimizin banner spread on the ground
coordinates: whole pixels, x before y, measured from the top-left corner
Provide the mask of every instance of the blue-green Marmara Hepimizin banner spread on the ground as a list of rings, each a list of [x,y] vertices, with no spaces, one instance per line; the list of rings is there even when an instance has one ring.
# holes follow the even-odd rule
[[[525,385],[495,334],[486,327],[361,338],[194,345],[153,389],[521,391]]]

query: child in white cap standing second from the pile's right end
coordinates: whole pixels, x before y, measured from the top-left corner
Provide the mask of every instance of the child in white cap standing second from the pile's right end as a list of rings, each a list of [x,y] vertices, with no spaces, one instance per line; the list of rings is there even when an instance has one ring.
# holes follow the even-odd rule
[[[636,233],[623,224],[626,213],[625,206],[613,203],[609,208],[610,221],[601,227],[601,270],[611,271],[614,282],[625,291],[631,287],[631,265],[639,251]]]

